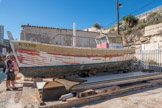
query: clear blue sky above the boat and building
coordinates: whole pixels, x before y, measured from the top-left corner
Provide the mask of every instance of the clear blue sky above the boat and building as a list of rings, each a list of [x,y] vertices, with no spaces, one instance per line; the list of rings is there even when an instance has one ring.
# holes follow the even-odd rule
[[[120,20],[162,5],[162,0],[119,0]],[[116,0],[0,0],[0,25],[20,39],[21,25],[83,30],[95,23],[109,28],[116,23]]]

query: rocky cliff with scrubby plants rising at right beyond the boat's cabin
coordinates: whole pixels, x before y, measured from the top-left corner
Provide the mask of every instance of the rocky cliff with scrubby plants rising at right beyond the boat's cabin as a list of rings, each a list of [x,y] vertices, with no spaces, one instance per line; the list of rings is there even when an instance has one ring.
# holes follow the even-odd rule
[[[162,8],[157,12],[149,13],[145,19],[137,20],[137,24],[133,27],[128,27],[124,23],[120,25],[124,46],[151,43],[153,37],[162,35]],[[151,34],[148,35],[148,33]]]

